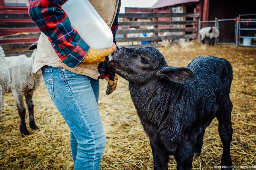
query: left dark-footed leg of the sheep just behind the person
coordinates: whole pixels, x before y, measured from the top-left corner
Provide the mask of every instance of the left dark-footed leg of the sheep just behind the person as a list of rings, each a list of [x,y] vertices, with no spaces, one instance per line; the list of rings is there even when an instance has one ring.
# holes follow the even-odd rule
[[[22,135],[27,136],[29,135],[25,118],[26,118],[26,108],[24,106],[23,102],[23,95],[18,94],[16,91],[12,89],[13,96],[14,96],[14,102],[18,110],[18,114],[20,116],[20,132]]]

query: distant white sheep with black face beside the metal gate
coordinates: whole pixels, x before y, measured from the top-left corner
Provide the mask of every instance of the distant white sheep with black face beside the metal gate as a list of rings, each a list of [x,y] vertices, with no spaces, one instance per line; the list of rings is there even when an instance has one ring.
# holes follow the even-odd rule
[[[204,27],[199,30],[201,41],[205,44],[205,37],[210,37],[209,46],[214,46],[215,38],[219,37],[219,30],[215,27]]]

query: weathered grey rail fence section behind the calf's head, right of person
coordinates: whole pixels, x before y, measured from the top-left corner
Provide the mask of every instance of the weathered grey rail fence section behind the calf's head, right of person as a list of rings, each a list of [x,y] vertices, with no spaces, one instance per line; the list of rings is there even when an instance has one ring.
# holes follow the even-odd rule
[[[136,38],[116,38],[117,44],[120,42],[151,42],[150,44],[127,44],[128,47],[142,47],[142,46],[160,46],[163,40],[178,40],[195,39],[197,38],[199,13],[121,13],[119,15],[118,34],[136,34],[136,33],[153,33],[151,37],[136,37]],[[180,19],[177,19],[180,18]],[[190,20],[186,20],[190,18]],[[128,20],[128,21],[126,21]],[[147,20],[147,21],[145,21]],[[176,20],[176,21],[175,21]],[[179,20],[179,21],[177,21]],[[153,29],[146,29],[146,27],[154,26]],[[189,27],[187,27],[189,26]],[[136,30],[130,30],[134,27]],[[159,33],[168,32],[176,33],[168,36],[161,36]],[[171,43],[170,43],[171,44]]]

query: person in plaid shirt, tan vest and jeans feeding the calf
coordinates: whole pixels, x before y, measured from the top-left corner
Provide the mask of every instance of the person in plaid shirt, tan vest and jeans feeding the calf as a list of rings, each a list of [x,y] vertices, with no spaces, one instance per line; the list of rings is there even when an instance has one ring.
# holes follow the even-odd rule
[[[113,46],[101,50],[90,48],[72,29],[61,8],[66,1],[29,3],[29,15],[41,30],[33,71],[42,71],[47,91],[70,128],[74,169],[98,170],[106,146],[98,109],[99,79],[108,79],[107,95],[115,90],[118,77],[105,60],[115,49],[121,0],[89,0],[114,36]]]

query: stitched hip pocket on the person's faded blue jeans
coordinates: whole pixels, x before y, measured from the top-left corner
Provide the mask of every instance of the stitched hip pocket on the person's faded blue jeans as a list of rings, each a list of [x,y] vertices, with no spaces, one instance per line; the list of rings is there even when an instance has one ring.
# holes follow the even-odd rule
[[[51,98],[54,98],[52,69],[41,69],[45,86]]]

